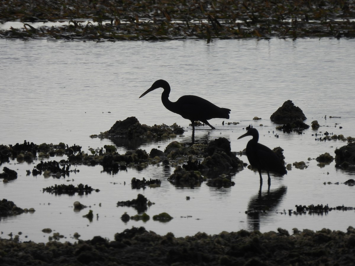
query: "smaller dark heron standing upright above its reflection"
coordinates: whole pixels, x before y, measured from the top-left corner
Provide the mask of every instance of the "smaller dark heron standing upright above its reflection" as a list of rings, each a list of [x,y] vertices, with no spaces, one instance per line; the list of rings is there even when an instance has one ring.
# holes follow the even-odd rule
[[[249,140],[246,145],[246,156],[248,157],[249,163],[252,167],[255,167],[259,171],[260,175],[260,186],[263,183],[263,178],[261,176],[261,170],[267,171],[268,184],[270,187],[271,179],[270,172],[276,172],[281,175],[287,174],[286,167],[282,160],[267,146],[258,143],[259,132],[256,128],[252,126],[247,128],[247,132],[241,135],[238,139],[244,138],[246,136],[252,136],[253,138]]]

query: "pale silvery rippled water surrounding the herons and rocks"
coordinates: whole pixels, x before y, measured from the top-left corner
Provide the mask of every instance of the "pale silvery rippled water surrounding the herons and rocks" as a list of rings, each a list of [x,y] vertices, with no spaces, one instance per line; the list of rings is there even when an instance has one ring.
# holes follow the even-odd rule
[[[202,96],[232,110],[230,120],[225,122],[240,122],[222,126],[223,119],[211,120],[216,129],[198,127],[197,142],[222,136],[230,140],[232,151],[241,151],[249,138],[237,138],[252,123],[259,130],[261,143],[284,149],[287,163],[305,161],[308,165],[304,170],[293,167],[282,178],[272,176],[268,193],[267,178],[259,191],[258,173],[247,168],[232,174],[236,185],[231,188],[211,188],[206,182],[196,188],[178,188],[167,181],[174,168],[163,166],[128,168],[115,175],[102,172],[101,166],[77,166],[80,172],[56,179],[26,176],[26,170],[32,170],[39,161],[30,165],[11,161],[1,165],[0,170],[4,166],[16,170],[18,178],[1,182],[0,199],[11,200],[21,208],[34,207],[36,211],[1,217],[0,237],[22,232],[20,240],[47,242],[49,235],[41,232],[43,228],[63,234],[63,240],[75,241],[71,238],[75,232],[81,239],[94,235],[113,239],[114,233],[132,226],[144,226],[159,234],[173,232],[175,236],[240,229],[266,232],[278,227],[290,232],[294,227],[346,231],[348,226],[354,226],[354,211],[288,215],[296,204],[355,205],[354,187],[342,184],[354,179],[355,173],[337,170],[335,162],[320,168],[315,160],[325,152],[335,156],[334,150],[347,143],[319,142],[312,136],[328,131],[355,137],[353,39],[217,40],[210,44],[196,40],[94,43],[0,39],[0,44],[0,144],[23,140],[36,144],[64,142],[80,145],[89,152],[89,147],[112,144],[89,135],[107,131],[116,120],[130,116],[148,125],[176,122],[186,129],[184,136],[176,140],[188,143],[189,121],[165,109],[160,100],[162,90],[138,99],[155,80],[165,79],[171,86],[170,100],[186,94]],[[303,135],[273,133],[276,124],[269,117],[289,99],[304,111],[307,124],[318,120],[322,127],[316,131],[310,128]],[[253,121],[255,116],[262,120]],[[142,143],[138,148],[148,153],[152,148],[164,150],[171,141]],[[137,147],[125,143],[118,146],[120,153],[133,148]],[[246,156],[240,159],[248,163]],[[159,178],[162,185],[131,189],[133,177]],[[84,196],[42,192],[42,188],[63,183],[88,184],[100,192]],[[123,223],[120,217],[124,212],[137,212],[130,207],[116,207],[116,203],[136,198],[138,193],[155,203],[147,210],[148,215],[168,212],[174,219],[167,223],[152,218],[146,223]],[[88,209],[73,211],[76,200],[91,206],[92,222],[82,217]],[[269,211],[258,217],[245,214],[260,204],[268,206]]]

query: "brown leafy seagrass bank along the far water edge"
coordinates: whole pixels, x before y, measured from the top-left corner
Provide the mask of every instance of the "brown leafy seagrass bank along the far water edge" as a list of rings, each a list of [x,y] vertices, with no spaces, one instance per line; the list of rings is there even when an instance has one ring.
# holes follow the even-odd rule
[[[172,40],[238,38],[353,38],[352,1],[5,1],[3,21],[21,29],[0,30],[2,38],[65,40]],[[30,22],[67,20],[61,27]],[[85,21],[90,20],[94,23]],[[95,22],[98,22],[96,24]]]

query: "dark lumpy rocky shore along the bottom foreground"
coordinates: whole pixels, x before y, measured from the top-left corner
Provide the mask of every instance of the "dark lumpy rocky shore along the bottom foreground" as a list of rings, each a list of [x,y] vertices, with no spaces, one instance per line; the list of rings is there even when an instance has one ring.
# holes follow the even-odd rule
[[[75,244],[0,239],[0,264],[12,265],[351,265],[355,259],[355,233],[322,229],[292,235],[278,232],[197,233],[176,238],[143,227]]]

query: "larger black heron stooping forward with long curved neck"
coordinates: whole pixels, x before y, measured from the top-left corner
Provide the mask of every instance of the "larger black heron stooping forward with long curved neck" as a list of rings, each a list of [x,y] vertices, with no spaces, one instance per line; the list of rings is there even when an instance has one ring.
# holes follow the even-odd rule
[[[181,96],[176,102],[169,100],[170,85],[163,79],[155,81],[146,92],[139,98],[143,97],[152,90],[163,88],[162,102],[166,109],[171,112],[178,113],[182,117],[188,119],[192,123],[192,142],[195,139],[195,121],[201,121],[212,129],[215,129],[207,120],[211,118],[229,118],[230,109],[221,108],[214,105],[201,97],[193,95]]]

